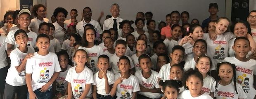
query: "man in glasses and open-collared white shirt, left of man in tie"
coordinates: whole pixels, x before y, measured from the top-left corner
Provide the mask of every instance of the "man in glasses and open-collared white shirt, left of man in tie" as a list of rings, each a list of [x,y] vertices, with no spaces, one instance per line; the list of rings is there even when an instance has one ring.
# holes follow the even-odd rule
[[[83,37],[83,33],[84,33],[84,26],[86,24],[92,24],[93,27],[95,28],[96,32],[99,34],[102,34],[102,30],[101,30],[99,22],[92,19],[92,9],[90,7],[85,7],[83,9],[83,20],[78,22],[78,24],[76,25],[76,31],[82,37]]]

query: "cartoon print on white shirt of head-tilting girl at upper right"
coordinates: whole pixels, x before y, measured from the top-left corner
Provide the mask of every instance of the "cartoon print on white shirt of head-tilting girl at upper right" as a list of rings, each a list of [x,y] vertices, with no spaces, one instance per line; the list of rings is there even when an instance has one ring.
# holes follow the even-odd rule
[[[224,50],[227,50],[227,49],[224,49],[224,47],[222,47],[221,45],[218,45],[217,47],[215,47],[215,52],[214,52],[214,55],[213,55],[213,59],[218,59],[218,60],[225,59]]]

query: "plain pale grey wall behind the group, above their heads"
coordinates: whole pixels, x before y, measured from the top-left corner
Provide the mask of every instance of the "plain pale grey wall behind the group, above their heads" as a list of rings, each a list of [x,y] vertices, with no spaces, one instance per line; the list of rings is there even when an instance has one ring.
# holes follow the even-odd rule
[[[209,17],[209,3],[218,3],[218,16],[225,16],[225,0],[47,0],[47,17],[50,19],[56,7],[64,7],[69,13],[72,8],[78,10],[78,20],[84,7],[92,9],[92,19],[97,20],[100,12],[104,12],[101,23],[107,14],[111,14],[109,9],[113,3],[120,5],[120,17],[128,20],[135,20],[137,12],[151,11],[155,21],[165,21],[165,16],[173,10],[180,13],[187,11],[190,13],[189,22],[197,18],[201,22]],[[70,19],[68,14],[67,19]]]

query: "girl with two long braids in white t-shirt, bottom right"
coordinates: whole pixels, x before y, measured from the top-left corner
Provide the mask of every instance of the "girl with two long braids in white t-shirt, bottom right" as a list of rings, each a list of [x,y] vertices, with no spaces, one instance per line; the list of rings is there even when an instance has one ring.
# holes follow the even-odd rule
[[[235,71],[235,64],[231,64],[229,62],[222,62],[217,64],[217,74],[220,80],[213,82],[210,94],[211,97],[217,99],[247,98],[244,90],[242,89],[242,86],[236,82]]]

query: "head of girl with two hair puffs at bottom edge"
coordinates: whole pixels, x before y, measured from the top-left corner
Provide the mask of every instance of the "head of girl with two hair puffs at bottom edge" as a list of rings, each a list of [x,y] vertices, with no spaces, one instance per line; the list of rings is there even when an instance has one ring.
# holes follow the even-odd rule
[[[179,87],[182,86],[182,82],[179,80],[160,80],[159,85],[163,86],[165,99],[178,99],[180,92]]]

